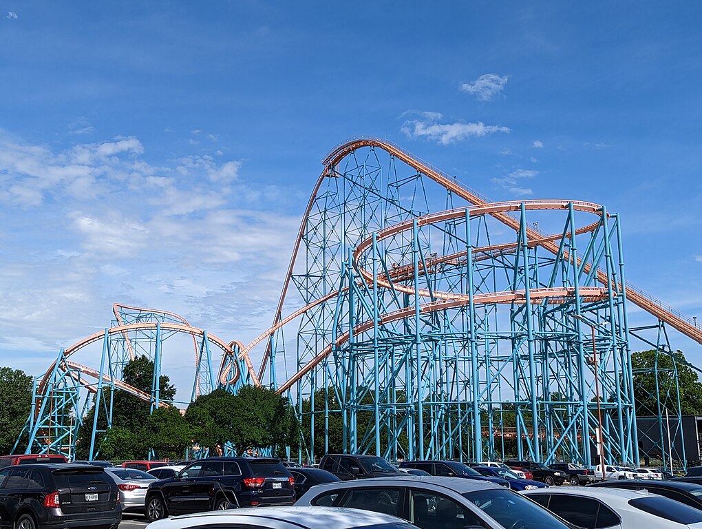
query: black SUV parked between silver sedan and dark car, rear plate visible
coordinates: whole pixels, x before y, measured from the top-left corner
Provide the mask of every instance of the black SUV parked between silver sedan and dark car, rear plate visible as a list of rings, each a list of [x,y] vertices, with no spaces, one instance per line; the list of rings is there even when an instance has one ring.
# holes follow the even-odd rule
[[[173,478],[154,481],[146,493],[150,521],[230,507],[292,505],[295,481],[279,459],[207,457]]]

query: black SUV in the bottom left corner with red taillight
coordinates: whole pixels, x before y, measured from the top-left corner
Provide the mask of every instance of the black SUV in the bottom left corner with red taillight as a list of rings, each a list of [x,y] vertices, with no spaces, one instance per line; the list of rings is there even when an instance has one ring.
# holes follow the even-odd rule
[[[36,463],[0,470],[0,522],[21,529],[117,528],[114,480],[99,466]]]

